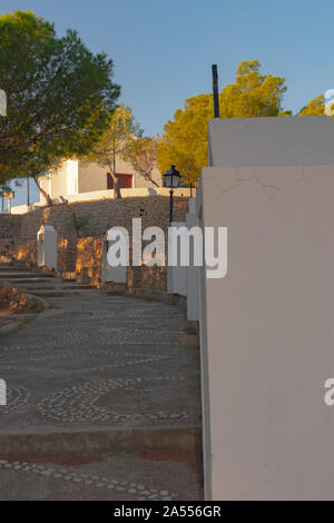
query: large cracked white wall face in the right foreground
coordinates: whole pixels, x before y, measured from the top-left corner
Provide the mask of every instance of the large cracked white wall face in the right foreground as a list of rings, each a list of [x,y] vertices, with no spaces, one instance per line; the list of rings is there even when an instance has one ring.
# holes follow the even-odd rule
[[[333,499],[334,166],[205,168],[197,209],[228,227],[200,286],[206,497]]]

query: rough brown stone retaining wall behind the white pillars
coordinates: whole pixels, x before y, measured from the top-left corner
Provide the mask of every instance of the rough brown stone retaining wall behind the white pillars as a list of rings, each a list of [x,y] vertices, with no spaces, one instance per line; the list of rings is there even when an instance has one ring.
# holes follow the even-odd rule
[[[187,211],[188,198],[175,197],[175,221],[185,221]],[[76,216],[90,215],[87,227],[80,231],[80,238],[68,229],[67,217],[72,213]],[[158,226],[166,231],[169,225],[169,197],[61,204],[26,215],[0,215],[0,255],[3,238],[11,238],[13,258],[30,266],[36,265],[37,233],[41,225],[52,225],[58,233],[58,270],[76,272],[78,280],[100,285],[104,235],[112,226],[125,227],[129,231],[131,245],[132,218],[141,218],[143,229]],[[166,290],[166,267],[129,267],[127,286]]]

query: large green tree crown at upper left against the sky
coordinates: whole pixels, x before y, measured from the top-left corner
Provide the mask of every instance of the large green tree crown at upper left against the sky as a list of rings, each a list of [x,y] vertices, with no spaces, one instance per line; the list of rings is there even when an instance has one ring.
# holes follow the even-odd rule
[[[30,11],[0,17],[0,181],[37,177],[62,157],[89,152],[107,128],[120,88],[112,60],[75,31],[57,38]]]

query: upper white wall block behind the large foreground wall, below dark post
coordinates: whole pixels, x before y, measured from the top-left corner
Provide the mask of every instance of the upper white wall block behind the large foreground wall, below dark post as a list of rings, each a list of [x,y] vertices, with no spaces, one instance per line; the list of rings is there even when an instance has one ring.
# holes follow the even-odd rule
[[[217,118],[209,121],[209,165],[332,165],[333,128],[328,116]]]

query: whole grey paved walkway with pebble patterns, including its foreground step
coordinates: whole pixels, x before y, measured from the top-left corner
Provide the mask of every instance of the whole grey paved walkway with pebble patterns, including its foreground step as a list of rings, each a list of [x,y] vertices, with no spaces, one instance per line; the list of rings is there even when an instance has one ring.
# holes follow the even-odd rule
[[[84,289],[47,299],[0,337],[0,499],[200,499],[185,310]]]

